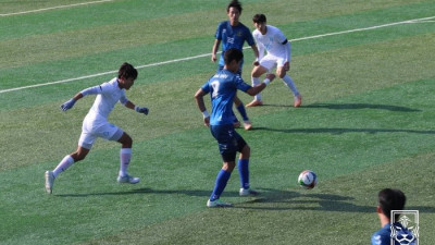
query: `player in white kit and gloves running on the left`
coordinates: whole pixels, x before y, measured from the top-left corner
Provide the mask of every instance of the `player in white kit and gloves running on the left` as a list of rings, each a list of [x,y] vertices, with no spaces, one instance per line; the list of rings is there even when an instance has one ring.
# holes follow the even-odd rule
[[[85,117],[82,135],[78,139],[77,150],[66,155],[53,171],[46,171],[46,189],[49,194],[53,191],[54,179],[74,162],[85,159],[98,137],[121,143],[119,183],[136,184],[139,177],[128,174],[127,168],[132,157],[133,139],[122,128],[108,122],[108,115],[117,102],[139,113],[148,114],[148,108],[137,107],[125,96],[137,78],[137,70],[129,63],[123,63],[117,72],[117,77],[108,83],[86,88],[77,93],[72,99],[61,106],[63,111],[73,108],[74,103],[88,95],[97,95],[94,106]]]

